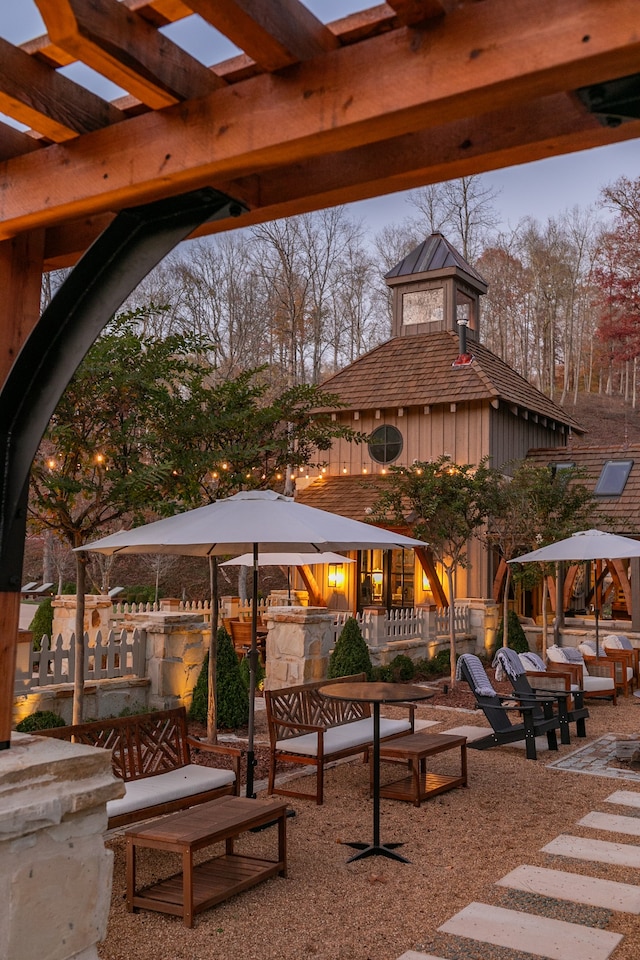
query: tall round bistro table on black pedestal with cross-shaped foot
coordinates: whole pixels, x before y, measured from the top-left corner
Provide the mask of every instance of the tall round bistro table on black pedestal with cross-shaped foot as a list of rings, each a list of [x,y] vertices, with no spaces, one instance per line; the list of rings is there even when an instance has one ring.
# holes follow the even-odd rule
[[[380,843],[380,704],[429,700],[436,691],[412,683],[364,682],[327,683],[319,688],[319,692],[330,700],[355,700],[373,705],[373,841],[347,843],[348,847],[360,851],[349,857],[347,863],[373,856],[410,863],[406,857],[395,852],[396,847],[402,846],[401,843]]]

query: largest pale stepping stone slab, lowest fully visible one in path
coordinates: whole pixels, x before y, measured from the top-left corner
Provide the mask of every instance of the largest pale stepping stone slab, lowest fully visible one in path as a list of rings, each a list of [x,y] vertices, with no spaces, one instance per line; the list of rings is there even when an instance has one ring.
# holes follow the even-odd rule
[[[438,931],[525,953],[535,946],[535,955],[549,960],[607,960],[622,940],[619,933],[486,903],[470,903]]]

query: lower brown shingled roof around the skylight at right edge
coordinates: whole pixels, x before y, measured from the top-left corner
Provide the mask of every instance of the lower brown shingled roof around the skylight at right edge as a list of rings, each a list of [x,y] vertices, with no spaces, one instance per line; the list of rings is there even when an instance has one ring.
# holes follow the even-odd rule
[[[623,536],[636,536],[640,533],[640,444],[616,444],[607,446],[581,446],[571,444],[567,447],[549,447],[529,450],[527,460],[539,466],[555,463],[575,463],[586,472],[584,481],[591,491],[595,488],[602,468],[607,460],[633,460],[631,472],[627,477],[624,490],[619,497],[597,497],[602,513],[613,520],[605,524],[594,518],[593,526],[620,533]]]

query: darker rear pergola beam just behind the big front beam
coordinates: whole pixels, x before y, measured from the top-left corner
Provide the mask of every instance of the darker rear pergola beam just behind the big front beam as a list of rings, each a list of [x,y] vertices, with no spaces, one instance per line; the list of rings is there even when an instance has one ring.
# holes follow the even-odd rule
[[[251,209],[239,220],[203,224],[195,236],[637,137],[640,120],[603,130],[593,117],[577,111],[569,97],[558,94],[533,105],[526,117],[517,110],[496,111],[435,132],[221,181],[217,189],[241,198]],[[112,217],[98,214],[47,230],[46,269],[75,263]]]

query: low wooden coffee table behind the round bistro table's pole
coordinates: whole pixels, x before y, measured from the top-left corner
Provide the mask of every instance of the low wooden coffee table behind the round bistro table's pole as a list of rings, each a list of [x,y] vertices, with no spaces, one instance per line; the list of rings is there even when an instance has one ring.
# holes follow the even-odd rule
[[[442,776],[427,771],[427,757],[460,748],[460,776]],[[411,733],[380,744],[380,759],[387,763],[406,763],[411,773],[380,787],[386,800],[407,800],[419,807],[422,800],[445,790],[467,786],[467,738],[446,733]]]

